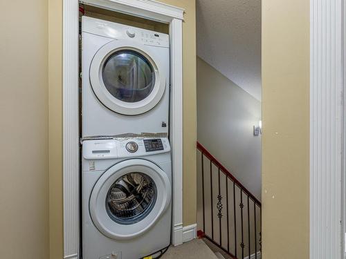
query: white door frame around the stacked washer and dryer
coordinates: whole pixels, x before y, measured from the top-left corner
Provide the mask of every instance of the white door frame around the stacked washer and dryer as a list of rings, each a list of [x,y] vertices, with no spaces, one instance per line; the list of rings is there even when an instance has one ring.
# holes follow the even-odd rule
[[[172,244],[183,243],[183,12],[154,0],[85,0],[83,3],[170,25]],[[64,258],[80,258],[78,132],[78,0],[63,1]]]

